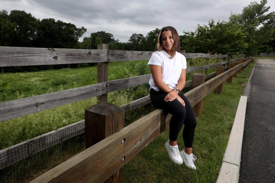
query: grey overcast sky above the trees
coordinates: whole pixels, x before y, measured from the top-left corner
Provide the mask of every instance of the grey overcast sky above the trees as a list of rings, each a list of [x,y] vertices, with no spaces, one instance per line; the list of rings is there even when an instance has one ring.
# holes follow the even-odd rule
[[[35,18],[54,18],[76,27],[85,27],[88,37],[106,31],[127,42],[133,33],[146,34],[156,28],[173,26],[179,35],[195,31],[198,24],[211,19],[227,21],[232,13],[241,13],[249,0],[0,0],[0,10],[24,10]],[[260,0],[256,2],[260,3]],[[268,0],[270,11],[275,1]]]

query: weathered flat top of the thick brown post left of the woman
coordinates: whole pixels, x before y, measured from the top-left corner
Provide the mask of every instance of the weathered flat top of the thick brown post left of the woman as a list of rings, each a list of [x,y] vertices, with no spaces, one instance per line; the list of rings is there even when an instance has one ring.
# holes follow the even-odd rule
[[[117,113],[117,112],[121,112],[121,111],[124,111],[124,110],[122,108],[120,108],[119,106],[115,105],[115,104],[99,103],[99,104],[95,104],[95,105],[89,107],[85,111],[94,112],[94,113],[97,113],[97,114],[107,116],[107,115],[114,114],[114,113]]]

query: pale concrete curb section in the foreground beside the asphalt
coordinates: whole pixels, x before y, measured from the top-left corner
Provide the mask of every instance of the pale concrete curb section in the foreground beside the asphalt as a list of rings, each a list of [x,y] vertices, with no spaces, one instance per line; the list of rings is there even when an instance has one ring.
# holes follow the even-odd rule
[[[247,96],[241,96],[216,183],[239,182]]]

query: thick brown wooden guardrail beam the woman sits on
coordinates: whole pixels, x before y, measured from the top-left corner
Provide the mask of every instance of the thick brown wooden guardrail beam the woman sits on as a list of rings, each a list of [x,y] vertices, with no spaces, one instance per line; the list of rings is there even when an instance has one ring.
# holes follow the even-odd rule
[[[236,65],[185,93],[191,106],[250,62]],[[155,110],[31,182],[104,182],[168,128],[170,117],[166,118],[163,110]]]

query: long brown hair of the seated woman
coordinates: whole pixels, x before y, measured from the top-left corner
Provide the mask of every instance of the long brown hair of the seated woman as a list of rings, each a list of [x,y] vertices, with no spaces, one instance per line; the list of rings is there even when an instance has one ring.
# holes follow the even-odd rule
[[[180,52],[180,37],[178,36],[178,32],[176,31],[176,29],[174,27],[167,26],[167,27],[163,27],[161,29],[160,33],[158,34],[155,51],[164,50],[164,47],[163,47],[162,41],[161,41],[161,34],[163,31],[169,31],[169,30],[172,32],[172,37],[174,39],[174,44],[170,51],[170,53],[172,53],[170,59],[172,59],[176,55],[176,51]]]

